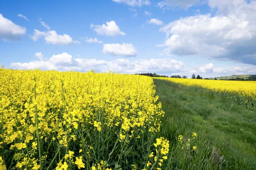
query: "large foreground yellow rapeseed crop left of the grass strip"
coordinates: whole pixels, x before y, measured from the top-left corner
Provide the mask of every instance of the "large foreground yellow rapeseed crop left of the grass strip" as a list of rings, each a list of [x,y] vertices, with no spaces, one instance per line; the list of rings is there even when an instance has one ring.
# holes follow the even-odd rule
[[[0,69],[0,169],[160,170],[157,99],[145,76]]]

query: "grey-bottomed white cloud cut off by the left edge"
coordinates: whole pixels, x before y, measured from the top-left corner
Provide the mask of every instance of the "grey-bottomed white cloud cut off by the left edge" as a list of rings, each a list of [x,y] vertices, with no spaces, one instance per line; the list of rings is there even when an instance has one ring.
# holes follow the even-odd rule
[[[26,28],[16,25],[0,14],[0,39],[4,41],[20,40],[24,34],[26,34]]]

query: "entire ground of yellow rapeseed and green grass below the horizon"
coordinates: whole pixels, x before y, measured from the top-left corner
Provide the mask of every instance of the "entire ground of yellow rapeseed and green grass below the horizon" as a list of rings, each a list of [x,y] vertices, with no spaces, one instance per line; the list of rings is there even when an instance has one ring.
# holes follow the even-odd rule
[[[238,83],[2,68],[0,170],[254,169]]]

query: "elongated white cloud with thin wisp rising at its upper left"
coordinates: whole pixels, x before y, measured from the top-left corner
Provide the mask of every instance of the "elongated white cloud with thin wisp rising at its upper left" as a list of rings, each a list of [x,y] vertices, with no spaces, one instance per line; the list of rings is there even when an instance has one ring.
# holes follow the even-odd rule
[[[58,35],[56,31],[50,30],[50,27],[47,26],[43,21],[40,21],[40,23],[45,26],[48,31],[39,31],[34,29],[33,36],[29,35],[32,40],[36,41],[38,38],[44,37],[44,40],[47,43],[53,45],[69,45],[72,43],[80,43],[80,41],[74,41],[73,38],[67,34]]]

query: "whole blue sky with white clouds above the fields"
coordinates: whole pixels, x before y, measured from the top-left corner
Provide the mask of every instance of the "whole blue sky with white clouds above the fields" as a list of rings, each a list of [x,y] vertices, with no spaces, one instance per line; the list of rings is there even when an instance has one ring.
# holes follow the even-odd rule
[[[58,71],[256,74],[256,0],[0,1],[0,64]]]

